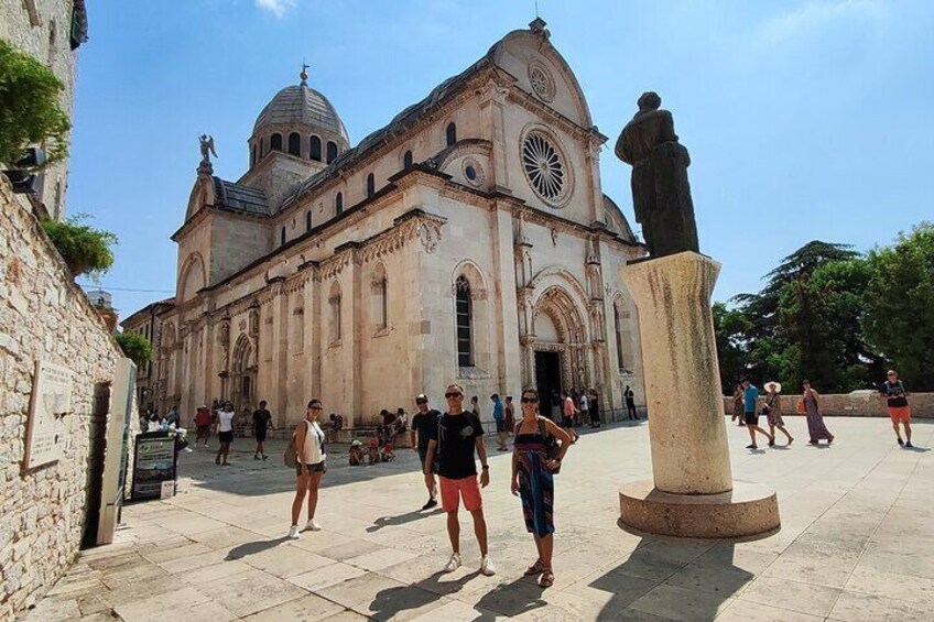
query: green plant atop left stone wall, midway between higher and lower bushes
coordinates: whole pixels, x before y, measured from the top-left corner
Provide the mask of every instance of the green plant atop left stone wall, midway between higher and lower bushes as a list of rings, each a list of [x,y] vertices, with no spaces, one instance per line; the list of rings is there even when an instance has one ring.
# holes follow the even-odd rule
[[[42,228],[65,260],[72,276],[87,273],[100,277],[113,265],[110,247],[117,243],[117,236],[84,225],[85,218],[87,215],[79,214],[65,221],[43,220]]]

